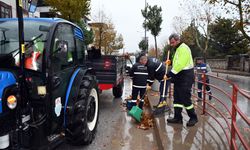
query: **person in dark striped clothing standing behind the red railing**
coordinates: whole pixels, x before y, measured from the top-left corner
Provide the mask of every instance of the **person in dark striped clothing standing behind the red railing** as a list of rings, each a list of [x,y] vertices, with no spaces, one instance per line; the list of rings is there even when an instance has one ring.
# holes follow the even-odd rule
[[[203,74],[207,74],[209,72],[211,72],[211,68],[209,67],[208,64],[204,63],[203,62],[203,59],[202,58],[198,58],[196,60],[196,66],[195,66],[195,69],[196,69],[196,72],[198,73],[197,76],[198,76],[198,101],[201,101],[202,100],[202,85],[203,85]],[[208,96],[208,99],[211,101],[212,99],[212,92],[211,92],[211,89],[210,89],[210,86],[209,86],[209,78],[208,76],[206,76],[206,91],[208,92],[209,96]]]

